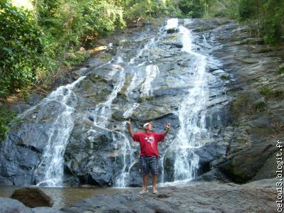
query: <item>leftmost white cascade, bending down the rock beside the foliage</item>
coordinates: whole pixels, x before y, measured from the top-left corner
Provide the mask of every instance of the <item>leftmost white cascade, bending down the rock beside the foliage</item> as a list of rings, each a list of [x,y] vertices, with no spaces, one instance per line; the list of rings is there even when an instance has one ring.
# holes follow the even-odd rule
[[[62,186],[63,155],[70,132],[74,126],[71,114],[75,109],[73,108],[74,106],[70,105],[70,99],[72,99],[72,103],[74,104],[76,94],[72,92],[72,88],[83,79],[84,77],[80,77],[72,84],[59,87],[38,104],[38,106],[48,106],[50,103],[56,102],[62,108],[62,112],[58,114],[53,126],[50,128],[45,151],[40,162],[34,169],[34,174],[38,175],[38,177],[45,174],[41,180],[37,180],[36,185],[38,186]],[[33,107],[33,109],[36,109],[38,106]]]

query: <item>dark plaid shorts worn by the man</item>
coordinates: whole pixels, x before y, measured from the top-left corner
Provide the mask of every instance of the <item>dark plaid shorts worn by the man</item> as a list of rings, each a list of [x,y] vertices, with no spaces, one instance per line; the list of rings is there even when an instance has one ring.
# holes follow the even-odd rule
[[[139,170],[141,175],[148,174],[158,175],[158,158],[156,156],[140,156]]]

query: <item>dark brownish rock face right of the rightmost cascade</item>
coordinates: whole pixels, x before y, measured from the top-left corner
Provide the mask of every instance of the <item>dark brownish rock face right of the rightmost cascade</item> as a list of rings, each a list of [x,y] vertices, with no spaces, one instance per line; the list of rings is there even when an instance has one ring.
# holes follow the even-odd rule
[[[202,31],[199,23],[203,21],[191,28]],[[212,55],[222,63],[209,72],[221,75],[226,94],[233,98],[231,123],[222,129],[227,152],[224,160],[217,160],[217,168],[234,182],[273,178],[277,165],[269,159],[279,151],[275,145],[284,136],[284,77],[278,72],[284,50],[270,51],[261,39],[249,38],[246,26],[232,23],[205,31],[204,36],[218,41],[219,48]]]

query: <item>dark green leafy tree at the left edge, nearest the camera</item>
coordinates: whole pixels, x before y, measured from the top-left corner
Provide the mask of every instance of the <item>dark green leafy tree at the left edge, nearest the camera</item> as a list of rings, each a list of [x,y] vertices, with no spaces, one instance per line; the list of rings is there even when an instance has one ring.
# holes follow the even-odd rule
[[[29,11],[0,1],[0,98],[35,82],[43,67],[43,33]]]

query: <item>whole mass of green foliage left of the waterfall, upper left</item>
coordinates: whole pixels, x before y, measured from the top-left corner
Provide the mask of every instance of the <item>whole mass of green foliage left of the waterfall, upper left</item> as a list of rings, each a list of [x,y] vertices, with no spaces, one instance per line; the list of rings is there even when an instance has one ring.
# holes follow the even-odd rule
[[[87,40],[125,26],[123,10],[107,0],[35,0],[34,11],[0,1],[0,98],[31,83],[52,82],[62,68],[88,57]],[[47,83],[48,84],[48,83]]]

